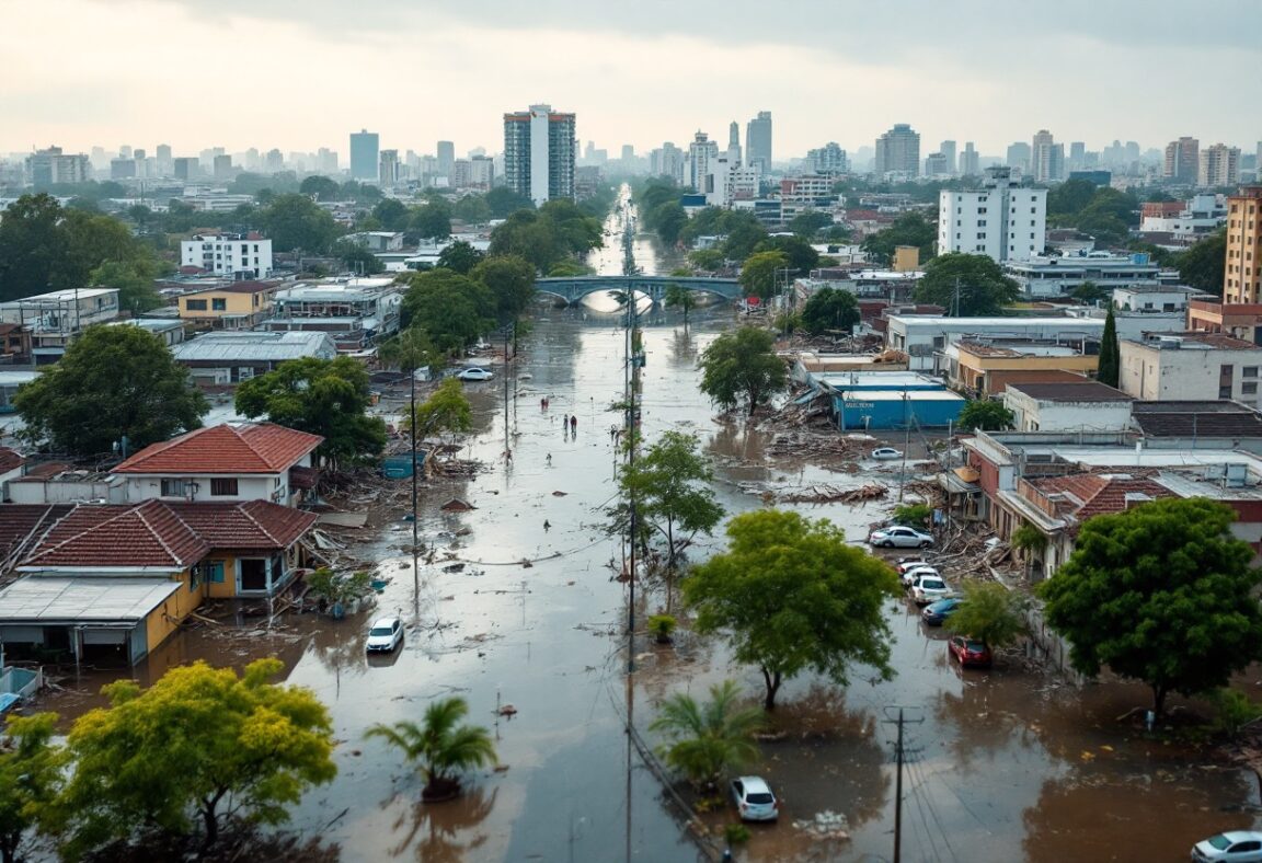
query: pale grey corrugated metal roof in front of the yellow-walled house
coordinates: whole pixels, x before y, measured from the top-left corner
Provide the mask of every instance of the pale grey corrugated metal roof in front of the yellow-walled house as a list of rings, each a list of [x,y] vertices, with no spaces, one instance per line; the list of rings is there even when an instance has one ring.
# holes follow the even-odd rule
[[[0,590],[0,621],[138,622],[183,587],[159,578],[33,575]]]

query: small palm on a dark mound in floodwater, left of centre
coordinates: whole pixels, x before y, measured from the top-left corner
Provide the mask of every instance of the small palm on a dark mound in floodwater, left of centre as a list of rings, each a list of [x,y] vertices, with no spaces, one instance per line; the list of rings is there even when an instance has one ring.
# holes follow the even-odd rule
[[[425,787],[420,799],[433,802],[451,800],[461,792],[459,771],[495,763],[491,733],[481,725],[458,725],[468,714],[463,698],[444,698],[425,708],[425,719],[396,722],[394,727],[374,725],[366,737],[384,737],[403,749],[404,758],[418,762]]]

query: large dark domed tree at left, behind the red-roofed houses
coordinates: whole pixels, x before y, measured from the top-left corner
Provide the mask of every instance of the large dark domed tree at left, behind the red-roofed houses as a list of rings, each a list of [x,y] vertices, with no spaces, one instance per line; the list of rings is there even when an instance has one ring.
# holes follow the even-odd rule
[[[124,437],[133,450],[167,440],[209,410],[163,341],[126,326],[90,327],[14,406],[23,438],[77,458],[107,454]]]

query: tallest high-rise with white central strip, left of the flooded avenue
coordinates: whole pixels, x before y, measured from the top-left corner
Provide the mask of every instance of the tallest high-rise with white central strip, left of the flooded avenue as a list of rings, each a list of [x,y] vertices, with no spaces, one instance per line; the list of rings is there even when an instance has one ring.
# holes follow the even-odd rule
[[[574,115],[531,105],[504,115],[504,179],[539,206],[574,197]]]

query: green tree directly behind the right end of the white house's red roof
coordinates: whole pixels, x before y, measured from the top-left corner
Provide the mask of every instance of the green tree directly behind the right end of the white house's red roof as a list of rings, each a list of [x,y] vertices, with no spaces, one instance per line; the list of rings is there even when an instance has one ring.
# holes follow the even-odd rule
[[[316,454],[334,468],[345,461],[379,455],[386,445],[386,426],[367,414],[371,402],[369,371],[351,357],[303,357],[242,381],[236,410],[324,438]]]

